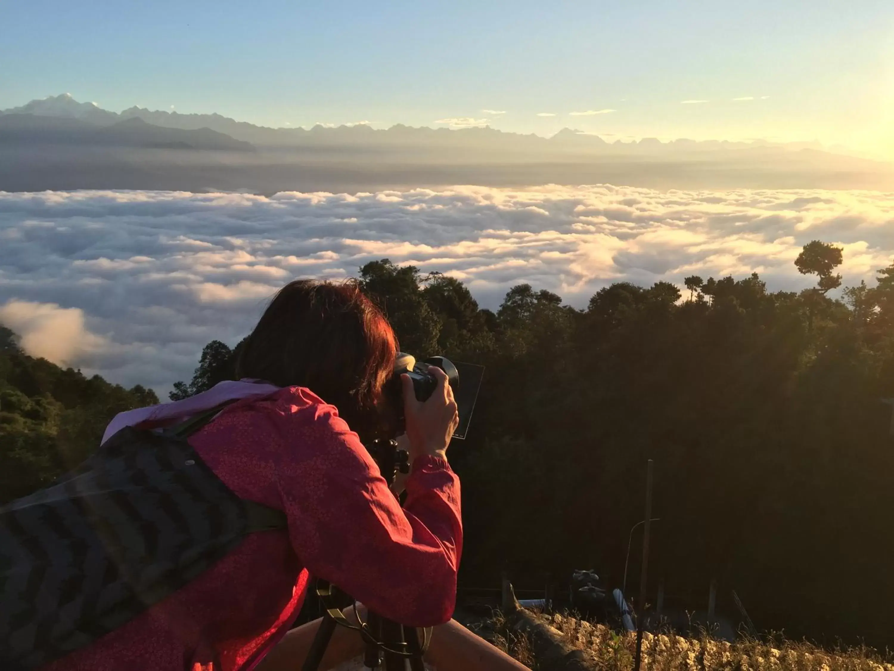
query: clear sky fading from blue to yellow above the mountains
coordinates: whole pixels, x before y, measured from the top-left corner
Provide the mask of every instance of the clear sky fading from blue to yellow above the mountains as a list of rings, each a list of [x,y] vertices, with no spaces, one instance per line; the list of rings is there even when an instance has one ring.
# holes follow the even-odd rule
[[[470,119],[894,157],[894,3],[0,4],[0,107],[63,92],[274,126]]]

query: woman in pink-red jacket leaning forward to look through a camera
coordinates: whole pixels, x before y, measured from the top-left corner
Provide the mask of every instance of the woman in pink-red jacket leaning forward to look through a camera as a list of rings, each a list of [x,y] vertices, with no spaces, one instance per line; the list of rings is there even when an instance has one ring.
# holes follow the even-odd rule
[[[282,511],[204,573],[47,671],[249,671],[291,628],[310,576],[401,624],[451,619],[462,554],[460,480],[446,452],[457,405],[440,369],[419,403],[404,376],[411,471],[398,503],[362,438],[381,421],[398,344],[355,282],[291,282],[240,350],[236,377],[175,403],[123,412],[158,429],[231,402],[190,445],[232,492]],[[299,667],[300,659],[293,660]]]

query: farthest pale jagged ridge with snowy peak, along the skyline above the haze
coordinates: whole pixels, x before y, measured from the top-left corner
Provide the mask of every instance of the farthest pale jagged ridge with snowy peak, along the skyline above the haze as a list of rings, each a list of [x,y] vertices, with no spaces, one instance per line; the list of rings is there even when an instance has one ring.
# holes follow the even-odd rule
[[[149,110],[145,107],[129,107],[121,113],[109,112],[96,103],[79,103],[68,93],[60,96],[31,100],[27,105],[0,111],[0,115],[35,115],[76,119],[99,126],[121,123],[130,119],[142,121],[161,128],[182,131],[210,129],[229,135],[258,147],[322,147],[351,145],[356,147],[413,147],[439,149],[446,147],[502,149],[513,153],[611,153],[611,154],[668,154],[692,153],[735,149],[786,150],[825,149],[819,142],[773,143],[766,140],[751,142],[730,142],[727,140],[673,140],[662,142],[656,138],[639,141],[607,142],[598,135],[592,135],[565,128],[551,138],[535,134],[502,132],[484,126],[451,130],[428,128],[398,123],[387,130],[376,130],[366,124],[342,125],[335,128],[316,125],[305,128],[268,128],[253,123],[236,121],[229,117],[210,115],[181,115],[178,112]]]

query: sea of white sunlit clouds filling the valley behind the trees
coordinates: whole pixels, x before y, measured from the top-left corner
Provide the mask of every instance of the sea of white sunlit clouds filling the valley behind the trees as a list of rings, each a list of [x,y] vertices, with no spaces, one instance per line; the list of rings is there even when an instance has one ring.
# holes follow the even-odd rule
[[[0,192],[0,324],[25,349],[160,395],[204,344],[236,344],[298,277],[372,259],[460,278],[483,307],[512,285],[583,307],[614,281],[688,275],[813,283],[805,242],[844,247],[846,285],[894,255],[894,193],[476,186],[267,198],[175,191]]]

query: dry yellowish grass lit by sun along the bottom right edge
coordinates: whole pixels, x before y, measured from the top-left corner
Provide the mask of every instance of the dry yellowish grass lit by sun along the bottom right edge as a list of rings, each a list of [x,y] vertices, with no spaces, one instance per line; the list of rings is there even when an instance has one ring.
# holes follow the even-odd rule
[[[541,617],[574,647],[593,651],[604,671],[632,671],[636,634],[617,633],[603,624],[567,615]],[[494,614],[487,623],[479,624],[477,630],[522,664],[536,669],[530,641],[511,632],[502,614]],[[671,632],[644,633],[642,668],[647,671],[894,671],[894,664],[890,657],[883,658],[865,646],[822,650],[810,643],[785,641],[781,637],[729,643],[713,639],[703,631],[697,638],[684,638]]]

